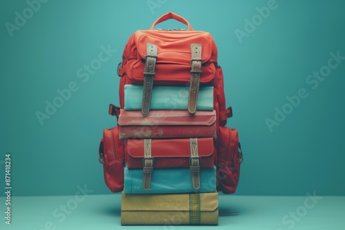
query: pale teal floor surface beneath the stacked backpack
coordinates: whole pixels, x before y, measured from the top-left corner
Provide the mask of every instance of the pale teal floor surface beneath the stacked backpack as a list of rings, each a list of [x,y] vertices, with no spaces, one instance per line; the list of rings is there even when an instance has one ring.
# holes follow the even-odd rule
[[[218,226],[121,226],[120,194],[12,197],[11,225],[0,198],[0,229],[345,229],[344,196],[219,196]],[[173,221],[172,221],[173,222]]]

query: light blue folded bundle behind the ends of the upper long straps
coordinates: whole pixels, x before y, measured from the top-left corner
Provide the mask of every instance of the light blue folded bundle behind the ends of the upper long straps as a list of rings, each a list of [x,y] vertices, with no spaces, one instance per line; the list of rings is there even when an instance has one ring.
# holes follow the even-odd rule
[[[160,86],[152,89],[150,109],[187,110],[189,87]],[[142,85],[125,85],[125,110],[141,110]],[[197,110],[213,110],[213,87],[199,87]]]

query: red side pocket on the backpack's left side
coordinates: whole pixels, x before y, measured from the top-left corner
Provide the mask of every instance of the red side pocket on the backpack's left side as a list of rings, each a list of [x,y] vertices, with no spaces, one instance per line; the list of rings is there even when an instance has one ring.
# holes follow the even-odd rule
[[[124,190],[124,144],[119,140],[119,129],[103,130],[99,144],[99,161],[103,164],[104,180],[112,192]]]

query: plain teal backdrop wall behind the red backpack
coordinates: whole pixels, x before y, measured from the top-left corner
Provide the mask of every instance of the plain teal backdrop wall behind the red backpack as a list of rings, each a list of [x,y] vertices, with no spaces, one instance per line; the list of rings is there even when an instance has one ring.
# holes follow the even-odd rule
[[[12,196],[73,195],[85,184],[93,194],[110,194],[97,149],[103,128],[116,125],[107,111],[119,103],[117,63],[132,32],[170,11],[217,43],[234,112],[228,127],[238,129],[244,151],[236,194],[344,196],[345,60],[315,90],[306,77],[327,64],[330,52],[345,56],[345,1],[277,0],[239,43],[234,31],[267,2],[161,0],[151,11],[146,0],[50,0],[11,37],[5,23],[28,5],[1,1],[0,170],[12,153]],[[117,52],[83,82],[77,70],[97,59],[102,45]],[[72,81],[79,90],[40,125],[35,113]],[[270,132],[265,119],[300,88],[308,98]]]

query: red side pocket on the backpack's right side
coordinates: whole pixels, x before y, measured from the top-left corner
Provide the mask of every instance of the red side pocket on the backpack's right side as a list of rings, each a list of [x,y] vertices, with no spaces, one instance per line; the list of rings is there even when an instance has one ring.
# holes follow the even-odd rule
[[[219,127],[217,191],[233,194],[239,181],[242,162],[241,145],[236,129]]]

